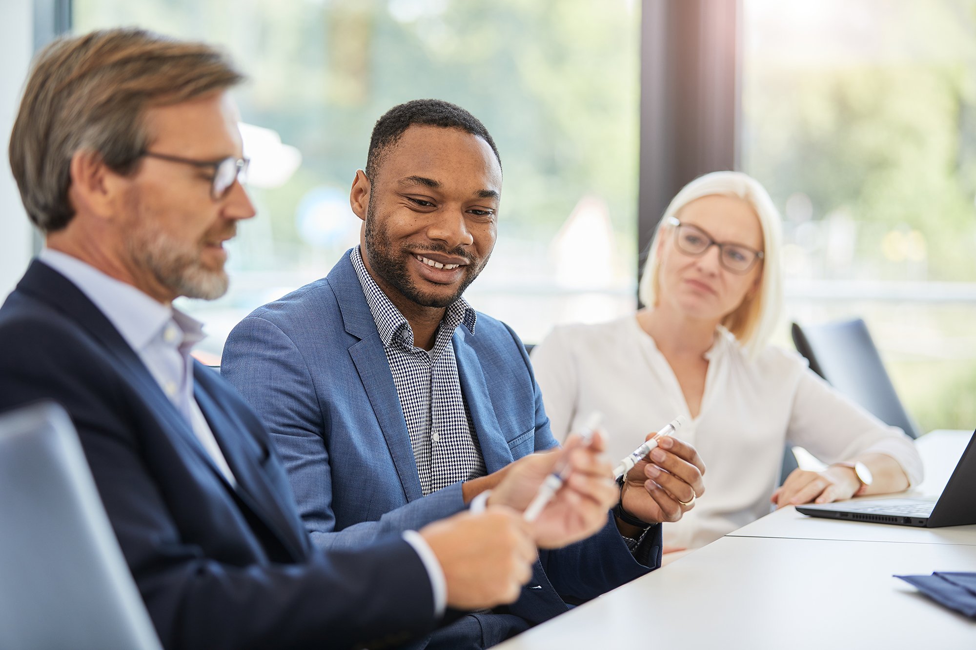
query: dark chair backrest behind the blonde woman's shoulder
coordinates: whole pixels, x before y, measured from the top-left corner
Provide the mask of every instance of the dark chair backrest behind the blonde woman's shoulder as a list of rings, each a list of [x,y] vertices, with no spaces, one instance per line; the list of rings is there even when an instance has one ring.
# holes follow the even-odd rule
[[[918,437],[918,427],[898,399],[863,320],[804,327],[793,323],[793,345],[810,369],[834,388],[881,422]]]

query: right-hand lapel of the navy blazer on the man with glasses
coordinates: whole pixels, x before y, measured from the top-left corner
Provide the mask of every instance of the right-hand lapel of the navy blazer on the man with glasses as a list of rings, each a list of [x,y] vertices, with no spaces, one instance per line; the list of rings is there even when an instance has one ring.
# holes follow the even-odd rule
[[[293,525],[295,522],[289,520],[281,509],[279,495],[267,482],[264,469],[260,465],[259,459],[264,450],[244,424],[211,395],[210,382],[217,378],[207,377],[206,373],[212,372],[194,363],[193,375],[196,381],[193,396],[237,481],[236,494],[264,521],[264,525],[277,534],[296,559],[302,559],[306,555],[305,544],[296,534]]]

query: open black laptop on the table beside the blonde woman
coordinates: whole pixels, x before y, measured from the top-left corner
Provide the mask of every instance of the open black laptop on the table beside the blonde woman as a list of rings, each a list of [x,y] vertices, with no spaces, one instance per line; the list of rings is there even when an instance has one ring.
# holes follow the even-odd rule
[[[938,500],[872,499],[797,506],[814,517],[939,528],[976,523],[976,431]]]

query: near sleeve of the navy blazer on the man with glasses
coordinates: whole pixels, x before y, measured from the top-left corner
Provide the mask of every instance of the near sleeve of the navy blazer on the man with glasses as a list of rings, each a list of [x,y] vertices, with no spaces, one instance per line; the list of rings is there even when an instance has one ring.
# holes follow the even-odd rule
[[[53,399],[70,414],[165,647],[341,648],[433,628],[427,571],[402,539],[297,564],[228,564],[185,541],[142,458],[140,436],[157,423],[127,399],[132,390],[104,350],[72,328],[48,319],[0,325],[0,411]]]

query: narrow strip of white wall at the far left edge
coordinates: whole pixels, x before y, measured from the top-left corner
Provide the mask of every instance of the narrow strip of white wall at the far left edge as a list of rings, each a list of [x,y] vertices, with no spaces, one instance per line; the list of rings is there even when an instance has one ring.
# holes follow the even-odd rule
[[[0,0],[0,303],[17,284],[32,253],[30,222],[10,173],[7,145],[20,90],[33,55],[32,0]]]

